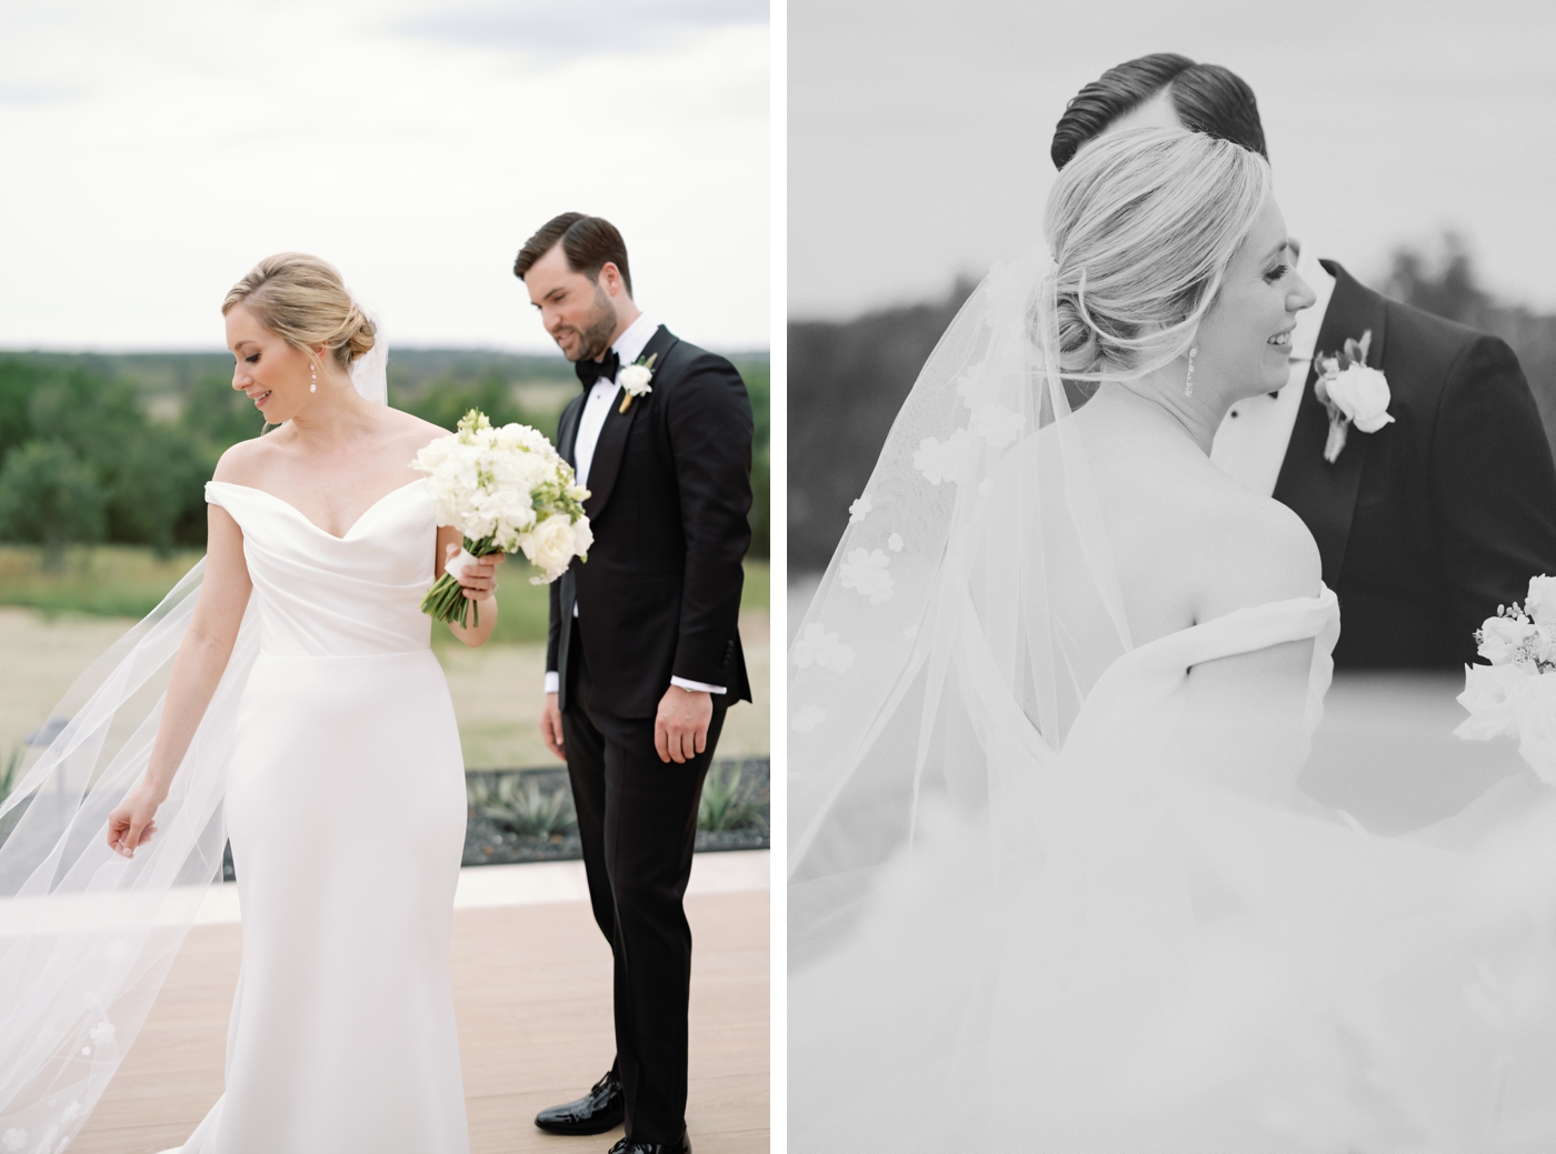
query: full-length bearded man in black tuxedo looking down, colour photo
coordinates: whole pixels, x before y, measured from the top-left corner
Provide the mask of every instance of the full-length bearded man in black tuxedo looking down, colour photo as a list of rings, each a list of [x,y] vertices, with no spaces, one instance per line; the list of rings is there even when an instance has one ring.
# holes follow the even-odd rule
[[[616,970],[615,1064],[535,1124],[604,1134],[626,1121],[612,1154],[683,1154],[682,897],[724,711],[752,700],[738,630],[752,404],[734,365],[638,309],[608,221],[557,216],[524,241],[513,275],[584,386],[557,425],[557,451],[590,490],[594,543],[551,585],[540,733],[568,764],[594,921]]]

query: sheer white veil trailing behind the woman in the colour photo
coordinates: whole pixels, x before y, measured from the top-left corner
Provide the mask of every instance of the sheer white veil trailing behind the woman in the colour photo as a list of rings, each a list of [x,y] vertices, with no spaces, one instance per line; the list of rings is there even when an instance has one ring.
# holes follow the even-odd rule
[[[387,344],[352,364],[387,403]],[[132,860],[107,848],[114,806],[146,770],[201,560],[81,678],[0,803],[0,1149],[61,1151],[129,1050],[185,933],[221,882],[227,762],[258,653],[251,602],[210,708]]]

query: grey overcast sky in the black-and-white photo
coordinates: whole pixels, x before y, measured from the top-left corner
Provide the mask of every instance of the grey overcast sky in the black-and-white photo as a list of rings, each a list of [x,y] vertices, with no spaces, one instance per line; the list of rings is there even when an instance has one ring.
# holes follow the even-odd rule
[[[1036,244],[1066,101],[1151,51],[1253,86],[1321,255],[1368,278],[1453,227],[1494,291],[1556,309],[1548,0],[790,0],[790,314],[938,297]]]

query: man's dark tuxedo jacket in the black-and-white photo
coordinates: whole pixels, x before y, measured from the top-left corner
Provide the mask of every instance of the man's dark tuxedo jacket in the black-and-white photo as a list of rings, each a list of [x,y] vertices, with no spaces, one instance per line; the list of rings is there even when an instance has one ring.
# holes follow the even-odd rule
[[[1497,605],[1556,574],[1556,467],[1534,397],[1500,339],[1323,264],[1337,283],[1318,351],[1372,330],[1394,423],[1349,429],[1327,463],[1315,358],[1274,498],[1307,523],[1340,597],[1338,667],[1456,669]]]

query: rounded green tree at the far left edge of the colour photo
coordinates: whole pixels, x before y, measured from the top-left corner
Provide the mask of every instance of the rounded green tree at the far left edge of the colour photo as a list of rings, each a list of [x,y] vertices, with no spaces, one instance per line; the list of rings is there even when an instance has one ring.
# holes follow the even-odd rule
[[[42,544],[50,560],[78,541],[103,537],[103,490],[79,456],[58,440],[34,440],[0,468],[0,537]]]

